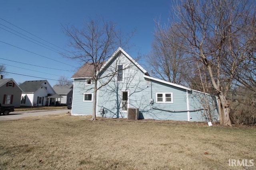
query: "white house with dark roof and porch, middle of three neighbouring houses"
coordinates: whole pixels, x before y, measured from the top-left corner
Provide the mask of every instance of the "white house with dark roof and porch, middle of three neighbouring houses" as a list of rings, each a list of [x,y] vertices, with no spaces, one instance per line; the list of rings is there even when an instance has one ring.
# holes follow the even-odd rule
[[[20,106],[50,106],[56,105],[58,98],[47,80],[30,80],[20,84],[23,90]]]

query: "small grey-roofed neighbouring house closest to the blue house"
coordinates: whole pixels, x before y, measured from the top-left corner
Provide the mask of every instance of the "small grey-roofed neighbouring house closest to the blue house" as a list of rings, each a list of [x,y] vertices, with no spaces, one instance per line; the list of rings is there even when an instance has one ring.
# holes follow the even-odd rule
[[[53,89],[58,95],[62,96],[57,100],[61,105],[72,104],[73,84],[56,84]]]

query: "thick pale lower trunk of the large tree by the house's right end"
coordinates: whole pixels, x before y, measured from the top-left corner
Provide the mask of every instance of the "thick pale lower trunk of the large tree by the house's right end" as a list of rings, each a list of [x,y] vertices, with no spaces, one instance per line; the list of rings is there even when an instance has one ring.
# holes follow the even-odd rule
[[[219,103],[220,124],[224,126],[232,126],[230,117],[229,117],[230,107],[228,102],[225,99],[225,96],[222,93],[218,95],[218,103]]]

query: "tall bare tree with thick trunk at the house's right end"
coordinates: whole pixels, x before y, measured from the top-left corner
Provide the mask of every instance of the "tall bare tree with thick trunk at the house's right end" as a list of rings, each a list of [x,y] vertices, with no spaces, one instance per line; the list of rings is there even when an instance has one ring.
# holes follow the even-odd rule
[[[176,7],[173,25],[186,39],[180,46],[206,66],[218,95],[220,123],[231,125],[225,96],[254,48],[255,35],[246,36],[255,21],[254,2],[183,0]]]

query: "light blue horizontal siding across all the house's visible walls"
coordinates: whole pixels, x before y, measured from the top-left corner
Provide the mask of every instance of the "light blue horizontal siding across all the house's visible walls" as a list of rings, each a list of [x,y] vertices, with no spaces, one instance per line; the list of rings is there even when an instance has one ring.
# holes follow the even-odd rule
[[[177,120],[177,121],[206,121],[203,116],[204,111],[188,112],[188,107],[192,109],[204,108],[202,106],[202,97],[200,92],[190,91],[170,84],[152,81],[152,98],[154,100],[153,109],[150,106],[151,85],[146,84],[144,72],[132,63],[123,53],[119,53],[108,63],[104,71],[100,73],[98,86],[108,82],[118,65],[123,65],[122,81],[117,81],[117,75],[112,80],[100,88],[97,94],[96,114],[100,116],[100,110],[104,108],[107,112],[106,117],[126,118],[127,111],[122,111],[122,91],[128,91],[128,107],[139,108],[140,119],[158,119],[158,120]],[[85,79],[74,80],[74,96],[72,105],[72,114],[91,115],[93,102],[83,102],[83,93],[92,92],[94,85],[85,85]],[[156,93],[172,93],[173,103],[157,103]],[[188,96],[188,98],[187,98]],[[213,117],[218,119],[215,96],[207,95],[210,110]],[[189,104],[187,104],[189,101]],[[203,102],[204,103],[204,102]],[[169,110],[162,111],[159,109]],[[178,111],[178,112],[172,112]],[[192,119],[190,119],[192,117]]]

